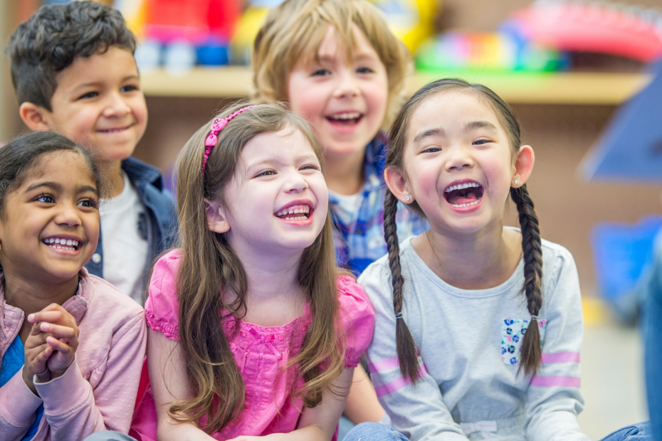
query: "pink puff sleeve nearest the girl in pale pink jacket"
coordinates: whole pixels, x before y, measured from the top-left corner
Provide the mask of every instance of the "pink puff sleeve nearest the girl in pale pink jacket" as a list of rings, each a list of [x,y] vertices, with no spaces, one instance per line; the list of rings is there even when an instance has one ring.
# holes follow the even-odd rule
[[[179,340],[177,271],[181,262],[180,250],[172,250],[157,260],[149,280],[149,297],[145,301],[147,324],[171,340]]]

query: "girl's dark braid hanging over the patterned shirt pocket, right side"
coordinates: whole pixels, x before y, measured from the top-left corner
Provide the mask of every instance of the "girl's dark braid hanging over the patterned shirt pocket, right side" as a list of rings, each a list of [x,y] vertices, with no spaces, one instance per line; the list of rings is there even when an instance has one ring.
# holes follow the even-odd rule
[[[533,210],[533,201],[526,189],[526,184],[520,188],[510,188],[510,197],[513,198],[517,213],[520,215],[520,227],[522,228],[522,253],[524,254],[524,287],[527,309],[532,316],[537,316],[542,307],[542,248],[540,244],[540,229],[538,218]],[[522,339],[522,356],[520,359],[519,373],[537,372],[538,364],[542,358],[542,347],[540,345],[540,329],[535,318],[531,319],[526,334]]]

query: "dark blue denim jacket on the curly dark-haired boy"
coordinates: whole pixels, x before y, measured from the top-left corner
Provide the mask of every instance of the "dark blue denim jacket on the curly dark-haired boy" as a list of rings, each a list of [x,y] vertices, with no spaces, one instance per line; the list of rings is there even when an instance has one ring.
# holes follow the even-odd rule
[[[138,198],[145,206],[145,218],[141,218],[137,228],[147,239],[147,262],[143,272],[142,285],[147,285],[152,264],[164,250],[172,248],[177,241],[177,208],[170,193],[164,191],[161,172],[154,166],[128,157],[122,161],[122,170],[135,186]],[[99,230],[99,243],[92,259],[85,265],[90,274],[103,277],[103,246]]]

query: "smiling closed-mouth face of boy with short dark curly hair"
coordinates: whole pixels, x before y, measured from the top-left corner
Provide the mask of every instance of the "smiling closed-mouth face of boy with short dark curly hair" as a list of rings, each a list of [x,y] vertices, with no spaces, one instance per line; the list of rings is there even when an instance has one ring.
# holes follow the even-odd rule
[[[105,53],[76,57],[58,73],[57,82],[52,112],[42,110],[48,127],[99,149],[105,159],[131,156],[147,126],[147,105],[132,53],[110,46]]]

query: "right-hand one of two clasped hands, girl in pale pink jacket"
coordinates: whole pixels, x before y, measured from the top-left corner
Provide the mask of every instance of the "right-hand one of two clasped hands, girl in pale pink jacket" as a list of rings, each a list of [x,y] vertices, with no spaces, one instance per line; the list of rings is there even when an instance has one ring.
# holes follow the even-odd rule
[[[78,349],[78,326],[66,309],[59,304],[49,304],[40,312],[28,316],[28,322],[39,326],[46,336],[46,343],[51,346],[53,354],[48,358],[46,366],[51,371],[51,379],[62,376]]]

